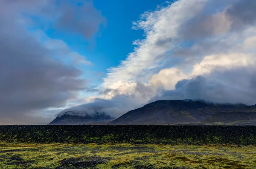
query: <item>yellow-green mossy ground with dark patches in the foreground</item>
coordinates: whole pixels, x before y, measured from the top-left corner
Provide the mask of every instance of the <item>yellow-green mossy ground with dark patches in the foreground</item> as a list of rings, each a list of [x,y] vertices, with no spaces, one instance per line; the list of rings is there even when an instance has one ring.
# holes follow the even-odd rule
[[[0,142],[0,169],[256,169],[256,146]]]

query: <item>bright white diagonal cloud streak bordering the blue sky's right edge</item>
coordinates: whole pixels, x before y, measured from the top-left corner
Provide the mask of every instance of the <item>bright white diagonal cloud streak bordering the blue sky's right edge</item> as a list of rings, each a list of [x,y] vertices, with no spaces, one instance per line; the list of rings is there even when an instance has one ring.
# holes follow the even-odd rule
[[[145,12],[141,20],[134,23],[134,29],[143,29],[144,40],[137,40],[138,45],[126,60],[117,67],[109,69],[102,86],[108,88],[118,81],[145,81],[152,74],[152,69],[161,66],[166,52],[175,49],[179,43],[177,36],[182,23],[198,14],[206,0],[179,0],[166,8],[154,12]],[[184,12],[186,11],[186,12]]]

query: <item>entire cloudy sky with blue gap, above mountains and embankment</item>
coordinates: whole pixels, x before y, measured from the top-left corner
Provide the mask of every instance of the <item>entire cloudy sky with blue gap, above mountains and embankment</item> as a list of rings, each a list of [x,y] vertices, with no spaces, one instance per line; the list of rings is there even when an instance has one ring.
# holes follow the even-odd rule
[[[256,104],[255,0],[1,0],[0,125],[156,100]]]

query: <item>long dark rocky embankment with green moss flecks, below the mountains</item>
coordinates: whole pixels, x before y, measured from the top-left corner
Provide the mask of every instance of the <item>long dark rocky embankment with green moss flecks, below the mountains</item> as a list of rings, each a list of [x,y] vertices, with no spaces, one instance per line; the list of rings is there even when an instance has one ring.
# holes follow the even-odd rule
[[[0,126],[0,141],[256,145],[256,126],[15,125]]]

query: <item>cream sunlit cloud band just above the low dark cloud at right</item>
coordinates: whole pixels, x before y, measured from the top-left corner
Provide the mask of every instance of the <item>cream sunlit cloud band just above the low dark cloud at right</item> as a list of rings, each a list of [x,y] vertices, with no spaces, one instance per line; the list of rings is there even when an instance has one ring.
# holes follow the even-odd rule
[[[175,89],[176,83],[183,79],[207,75],[216,70],[225,72],[247,66],[256,67],[255,55],[244,53],[210,55],[204,57],[200,63],[193,65],[192,71],[187,74],[182,69],[176,67],[162,69],[158,74],[152,75],[149,82],[153,86],[163,86],[165,90],[172,90]]]

